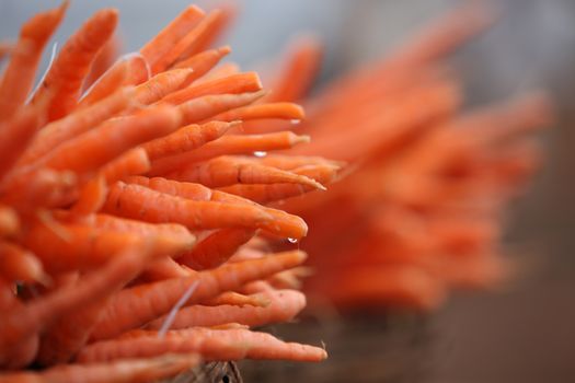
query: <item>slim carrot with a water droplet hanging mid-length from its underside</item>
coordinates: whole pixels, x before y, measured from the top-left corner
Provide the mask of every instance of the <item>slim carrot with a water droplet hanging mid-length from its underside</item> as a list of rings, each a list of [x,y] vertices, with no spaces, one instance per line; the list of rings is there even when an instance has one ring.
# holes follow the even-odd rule
[[[192,163],[210,160],[220,155],[252,154],[269,150],[290,149],[299,143],[310,142],[309,136],[297,136],[291,131],[267,135],[228,135],[216,141],[207,142],[197,150],[170,159],[170,162]]]

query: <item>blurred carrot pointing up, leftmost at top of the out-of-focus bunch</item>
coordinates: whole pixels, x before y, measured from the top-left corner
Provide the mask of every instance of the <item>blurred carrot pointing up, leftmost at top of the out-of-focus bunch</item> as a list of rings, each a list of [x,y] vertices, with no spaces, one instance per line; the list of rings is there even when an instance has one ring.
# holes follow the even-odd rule
[[[322,56],[320,43],[313,37],[302,37],[291,49],[267,102],[301,100],[315,78]]]

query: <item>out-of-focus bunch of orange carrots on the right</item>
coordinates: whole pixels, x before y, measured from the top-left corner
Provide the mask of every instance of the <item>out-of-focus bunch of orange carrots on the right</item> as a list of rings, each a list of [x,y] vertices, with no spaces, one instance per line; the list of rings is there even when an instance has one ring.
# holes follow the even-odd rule
[[[306,92],[320,45],[300,40],[287,55],[267,100],[306,105],[297,131],[312,142],[286,153],[347,167],[329,192],[285,202],[261,198],[265,186],[226,190],[275,202],[313,228],[301,243],[313,271],[304,282],[310,303],[430,310],[453,287],[490,288],[513,270],[501,249],[505,208],[540,164],[534,134],[551,120],[550,101],[530,92],[462,113],[461,81],[447,62],[494,15],[485,4],[463,4],[313,97]]]

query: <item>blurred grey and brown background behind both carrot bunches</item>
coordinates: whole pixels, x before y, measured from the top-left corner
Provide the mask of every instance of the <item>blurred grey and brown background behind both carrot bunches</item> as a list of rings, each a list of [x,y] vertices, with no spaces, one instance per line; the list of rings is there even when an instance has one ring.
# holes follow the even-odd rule
[[[0,38],[46,0],[0,0]],[[64,42],[96,9],[120,10],[124,51],[137,50],[189,1],[74,0],[55,40]],[[196,1],[217,7],[216,1]],[[300,34],[325,44],[318,86],[384,55],[451,0],[245,0],[222,42],[244,69],[261,68]],[[575,381],[575,1],[498,0],[499,21],[453,56],[468,106],[527,89],[548,90],[557,119],[542,136],[547,162],[511,207],[506,241],[521,265],[497,291],[453,297],[429,323],[423,382]],[[44,65],[46,65],[47,58]],[[266,67],[273,71],[273,63]],[[329,347],[329,345],[327,345]],[[321,365],[317,365],[321,369]]]

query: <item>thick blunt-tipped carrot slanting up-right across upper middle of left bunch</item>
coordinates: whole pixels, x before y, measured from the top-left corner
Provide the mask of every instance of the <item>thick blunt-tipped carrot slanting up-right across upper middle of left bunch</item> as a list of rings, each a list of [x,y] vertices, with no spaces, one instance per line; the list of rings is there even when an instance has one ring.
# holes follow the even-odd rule
[[[133,147],[162,137],[180,126],[177,109],[158,106],[110,120],[46,154],[38,164],[90,174]],[[82,155],[77,155],[82,153]]]

